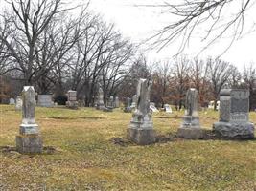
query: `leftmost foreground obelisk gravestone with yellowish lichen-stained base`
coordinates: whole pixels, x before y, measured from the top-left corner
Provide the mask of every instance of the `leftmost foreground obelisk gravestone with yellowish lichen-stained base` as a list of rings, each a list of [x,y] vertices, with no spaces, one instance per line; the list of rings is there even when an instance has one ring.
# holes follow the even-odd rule
[[[35,90],[33,86],[25,86],[22,91],[22,123],[19,135],[16,136],[16,148],[20,153],[41,153],[42,138],[35,123]]]

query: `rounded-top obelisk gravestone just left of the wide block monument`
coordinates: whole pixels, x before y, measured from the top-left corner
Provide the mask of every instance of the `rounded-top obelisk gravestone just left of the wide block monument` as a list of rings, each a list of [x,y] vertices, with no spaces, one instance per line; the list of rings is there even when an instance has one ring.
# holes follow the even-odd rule
[[[185,116],[177,130],[178,137],[188,139],[202,138],[202,130],[200,128],[198,117],[198,91],[195,88],[190,88],[186,94]]]

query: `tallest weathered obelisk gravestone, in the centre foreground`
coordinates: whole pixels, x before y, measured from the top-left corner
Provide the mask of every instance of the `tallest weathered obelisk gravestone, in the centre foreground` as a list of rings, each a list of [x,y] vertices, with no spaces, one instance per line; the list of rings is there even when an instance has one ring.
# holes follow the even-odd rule
[[[128,127],[128,139],[137,144],[151,144],[155,141],[155,132],[150,110],[151,82],[140,79],[137,86],[136,108]]]

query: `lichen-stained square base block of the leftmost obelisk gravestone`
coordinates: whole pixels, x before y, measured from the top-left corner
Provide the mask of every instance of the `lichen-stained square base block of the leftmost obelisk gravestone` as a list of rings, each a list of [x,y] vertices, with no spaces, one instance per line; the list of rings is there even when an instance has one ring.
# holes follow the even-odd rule
[[[18,135],[16,136],[16,149],[22,154],[42,153],[42,138],[39,135]]]

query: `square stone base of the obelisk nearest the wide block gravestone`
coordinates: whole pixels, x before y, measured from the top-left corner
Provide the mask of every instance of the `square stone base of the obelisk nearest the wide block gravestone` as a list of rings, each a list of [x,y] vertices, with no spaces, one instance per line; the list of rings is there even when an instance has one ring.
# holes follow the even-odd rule
[[[177,129],[177,136],[185,139],[200,139],[203,138],[203,131],[197,127],[179,127]]]

